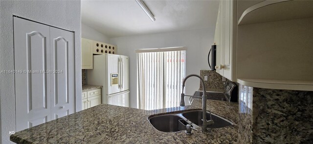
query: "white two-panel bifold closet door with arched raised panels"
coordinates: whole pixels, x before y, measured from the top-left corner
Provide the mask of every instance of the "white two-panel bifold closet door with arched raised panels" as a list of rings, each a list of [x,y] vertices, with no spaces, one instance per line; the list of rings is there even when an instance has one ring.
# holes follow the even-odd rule
[[[74,112],[74,34],[14,17],[16,130]]]

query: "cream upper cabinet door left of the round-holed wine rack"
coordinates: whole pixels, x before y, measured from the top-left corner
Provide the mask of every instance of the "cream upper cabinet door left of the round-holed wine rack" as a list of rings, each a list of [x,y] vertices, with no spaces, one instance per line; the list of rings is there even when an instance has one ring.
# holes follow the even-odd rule
[[[92,40],[82,38],[82,69],[93,68]]]

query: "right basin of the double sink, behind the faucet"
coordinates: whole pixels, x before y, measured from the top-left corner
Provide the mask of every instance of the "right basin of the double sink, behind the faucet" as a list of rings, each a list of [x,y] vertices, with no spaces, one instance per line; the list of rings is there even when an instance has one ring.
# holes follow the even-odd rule
[[[197,124],[198,126],[202,125],[202,110],[195,110],[195,111],[188,111],[183,112],[182,116],[186,119],[189,119],[189,121]],[[210,113],[206,112],[206,119],[210,120]],[[217,115],[212,114],[212,120],[214,121],[213,125],[208,125],[207,127],[210,128],[222,128],[226,126],[233,125],[233,123],[227,121],[224,118],[221,118]]]

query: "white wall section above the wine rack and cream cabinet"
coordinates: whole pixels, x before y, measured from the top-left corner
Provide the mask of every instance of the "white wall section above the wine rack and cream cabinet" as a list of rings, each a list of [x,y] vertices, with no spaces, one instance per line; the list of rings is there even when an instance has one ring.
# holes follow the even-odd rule
[[[109,38],[107,36],[84,23],[82,23],[82,38],[109,43]]]

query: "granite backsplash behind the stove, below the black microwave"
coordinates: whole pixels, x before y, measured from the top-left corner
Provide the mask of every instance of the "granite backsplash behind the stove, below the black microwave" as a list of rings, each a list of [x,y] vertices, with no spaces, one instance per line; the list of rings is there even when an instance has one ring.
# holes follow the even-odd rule
[[[203,80],[204,76],[208,76],[208,81],[204,81],[206,91],[224,92],[224,85],[220,74],[211,70],[200,70],[200,77],[203,78]],[[201,83],[199,90],[202,90]]]

